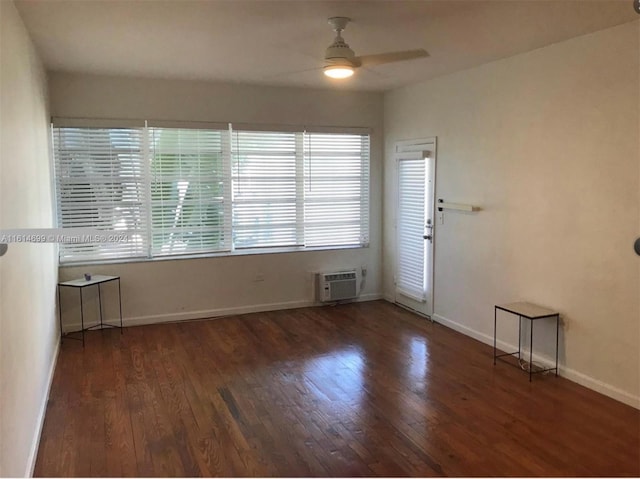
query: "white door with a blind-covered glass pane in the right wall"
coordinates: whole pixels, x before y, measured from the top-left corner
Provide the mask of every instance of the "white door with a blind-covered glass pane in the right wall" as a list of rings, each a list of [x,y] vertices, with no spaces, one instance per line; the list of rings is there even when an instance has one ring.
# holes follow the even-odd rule
[[[396,146],[396,302],[426,316],[433,314],[435,153],[435,139]]]

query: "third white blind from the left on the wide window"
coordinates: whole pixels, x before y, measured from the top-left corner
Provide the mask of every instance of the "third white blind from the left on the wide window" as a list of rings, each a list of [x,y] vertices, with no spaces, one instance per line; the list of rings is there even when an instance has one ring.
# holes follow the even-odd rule
[[[296,133],[235,131],[232,136],[236,249],[297,246],[302,151]],[[299,142],[301,143],[301,141]]]

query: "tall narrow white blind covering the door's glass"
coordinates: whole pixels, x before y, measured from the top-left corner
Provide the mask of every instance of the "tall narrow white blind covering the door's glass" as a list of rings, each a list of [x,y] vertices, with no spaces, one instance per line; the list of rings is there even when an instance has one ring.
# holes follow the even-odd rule
[[[425,175],[420,160],[398,161],[398,265],[396,288],[422,301],[425,298]]]

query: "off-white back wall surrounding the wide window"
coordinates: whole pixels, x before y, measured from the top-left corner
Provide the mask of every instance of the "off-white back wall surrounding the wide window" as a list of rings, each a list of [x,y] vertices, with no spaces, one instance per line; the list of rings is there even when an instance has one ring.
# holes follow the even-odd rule
[[[340,268],[367,266],[362,298],[380,297],[381,94],[66,73],[50,74],[49,87],[59,117],[372,128],[369,248],[61,268],[63,279],[85,271],[120,275],[128,324],[307,306],[314,301],[312,272]],[[63,296],[63,312],[77,322],[73,293]],[[105,303],[113,317],[113,303]]]

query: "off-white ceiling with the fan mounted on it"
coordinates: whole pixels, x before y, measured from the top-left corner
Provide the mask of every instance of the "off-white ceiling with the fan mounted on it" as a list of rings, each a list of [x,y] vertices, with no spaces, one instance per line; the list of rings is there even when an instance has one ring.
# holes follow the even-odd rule
[[[3,0],[0,0],[3,1]],[[388,90],[638,19],[632,0],[16,0],[53,71]],[[331,16],[357,55],[426,59],[321,70]],[[290,72],[298,72],[291,73]]]

